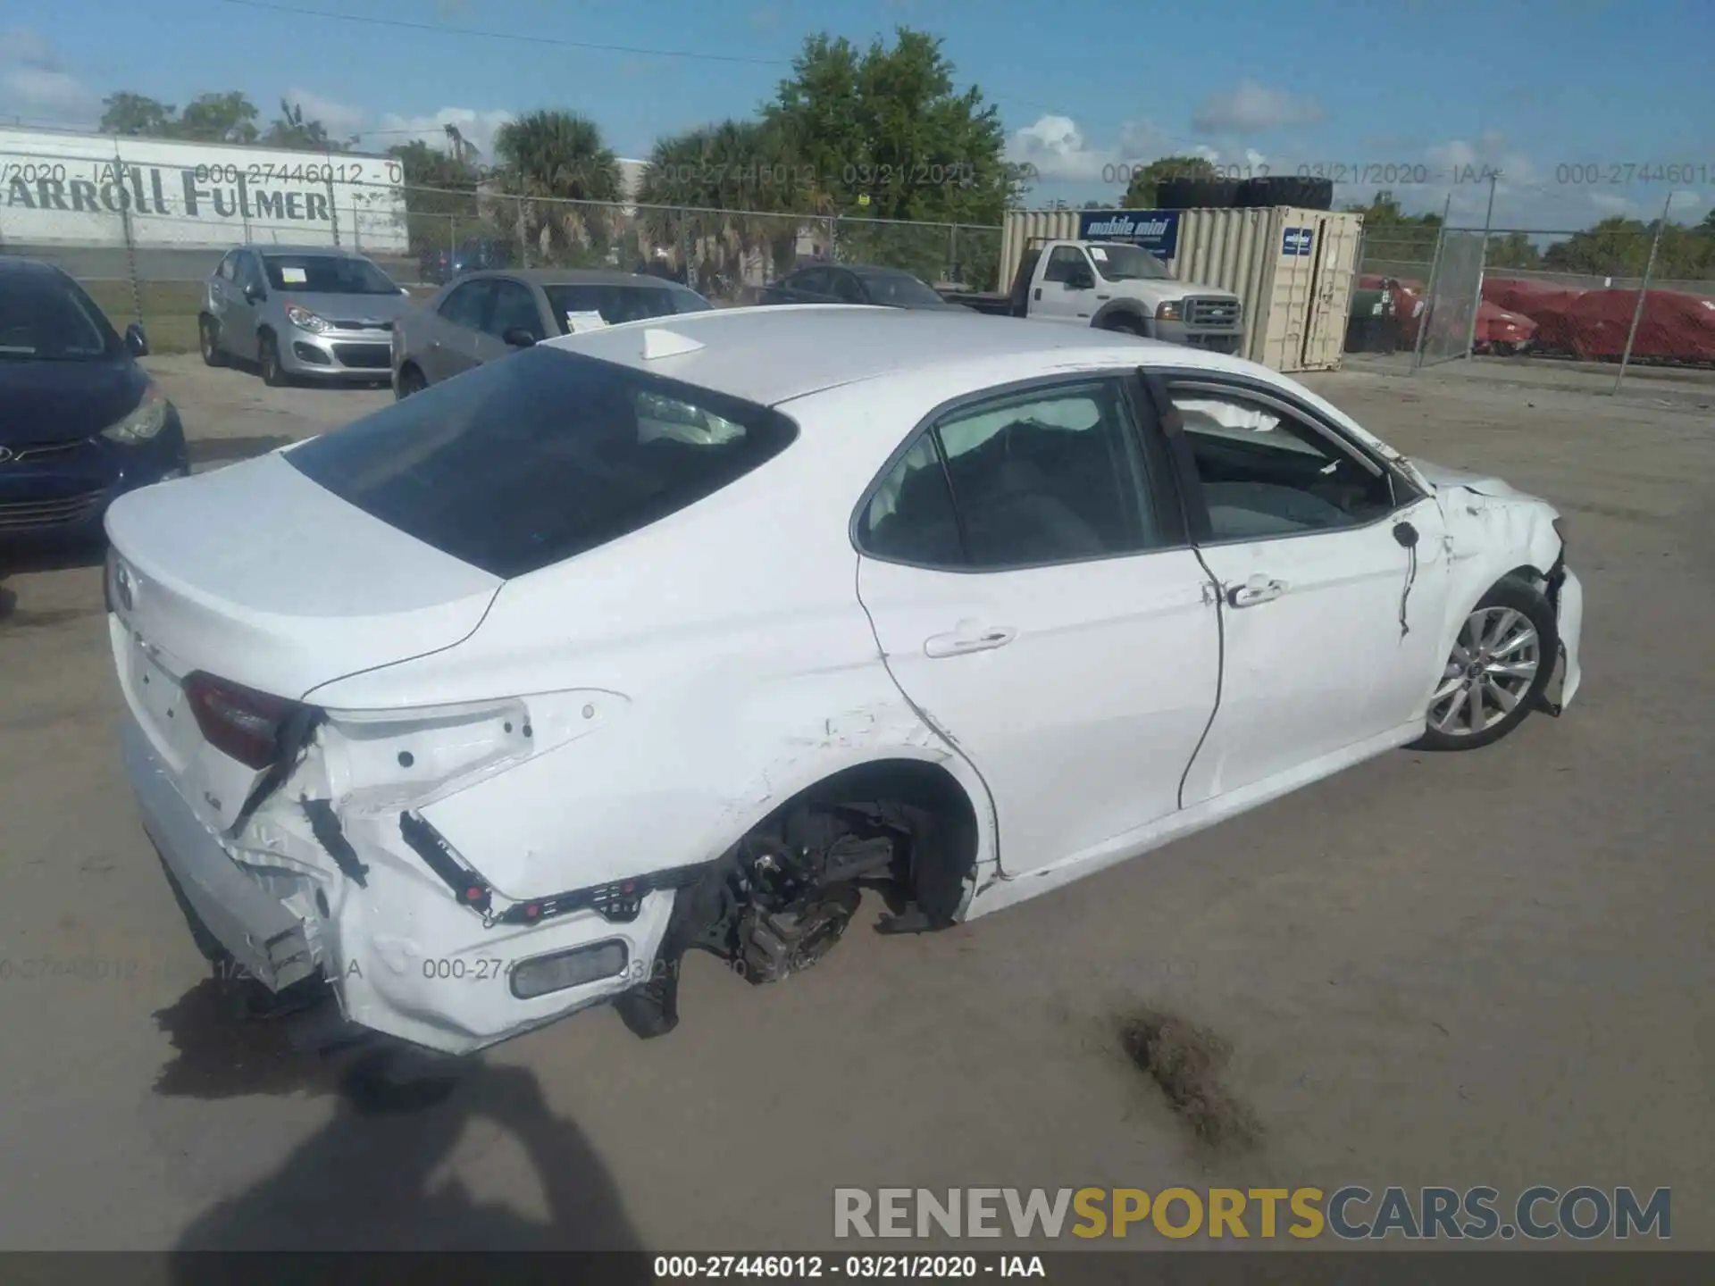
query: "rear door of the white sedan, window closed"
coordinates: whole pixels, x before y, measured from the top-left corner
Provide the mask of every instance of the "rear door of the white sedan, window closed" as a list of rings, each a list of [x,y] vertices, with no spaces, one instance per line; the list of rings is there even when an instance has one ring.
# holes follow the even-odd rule
[[[876,641],[986,782],[1007,874],[1175,811],[1214,710],[1213,590],[1134,388],[1082,376],[966,405],[859,514]]]

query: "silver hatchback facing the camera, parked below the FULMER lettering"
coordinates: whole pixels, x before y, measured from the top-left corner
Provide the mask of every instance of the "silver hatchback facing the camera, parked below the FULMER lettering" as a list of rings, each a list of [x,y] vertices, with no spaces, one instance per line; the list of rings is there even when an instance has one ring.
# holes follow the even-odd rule
[[[382,381],[394,319],[410,293],[374,262],[334,245],[244,245],[206,285],[202,360],[254,362],[268,384]]]

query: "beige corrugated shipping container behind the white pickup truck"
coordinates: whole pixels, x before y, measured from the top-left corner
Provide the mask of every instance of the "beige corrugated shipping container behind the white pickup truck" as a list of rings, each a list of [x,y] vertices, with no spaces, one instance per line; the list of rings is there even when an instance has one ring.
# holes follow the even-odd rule
[[[1087,213],[1008,211],[1000,235],[1000,288],[1012,286],[1032,240],[1075,240],[1079,218]],[[1245,357],[1276,370],[1339,369],[1362,214],[1276,206],[1183,209],[1178,219],[1168,269],[1180,281],[1238,295]]]

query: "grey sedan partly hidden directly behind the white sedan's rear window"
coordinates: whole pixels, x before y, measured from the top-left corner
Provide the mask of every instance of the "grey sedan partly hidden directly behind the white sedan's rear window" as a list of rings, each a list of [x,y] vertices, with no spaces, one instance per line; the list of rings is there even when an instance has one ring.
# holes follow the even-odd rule
[[[466,273],[400,317],[393,331],[393,393],[408,398],[556,334],[712,307],[677,281],[641,273],[588,267]]]

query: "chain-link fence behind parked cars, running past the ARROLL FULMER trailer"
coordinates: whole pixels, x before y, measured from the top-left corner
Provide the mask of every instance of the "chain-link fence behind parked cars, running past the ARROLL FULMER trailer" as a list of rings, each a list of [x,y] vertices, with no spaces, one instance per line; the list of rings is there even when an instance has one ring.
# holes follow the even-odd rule
[[[0,158],[0,252],[60,264],[115,322],[141,321],[156,352],[196,348],[202,281],[244,243],[358,250],[417,295],[478,267],[609,267],[669,276],[724,305],[756,302],[813,261],[971,288],[993,288],[1000,261],[988,225],[418,187],[391,158],[340,153],[259,161],[233,149],[235,161],[185,166],[147,141],[79,146]]]

